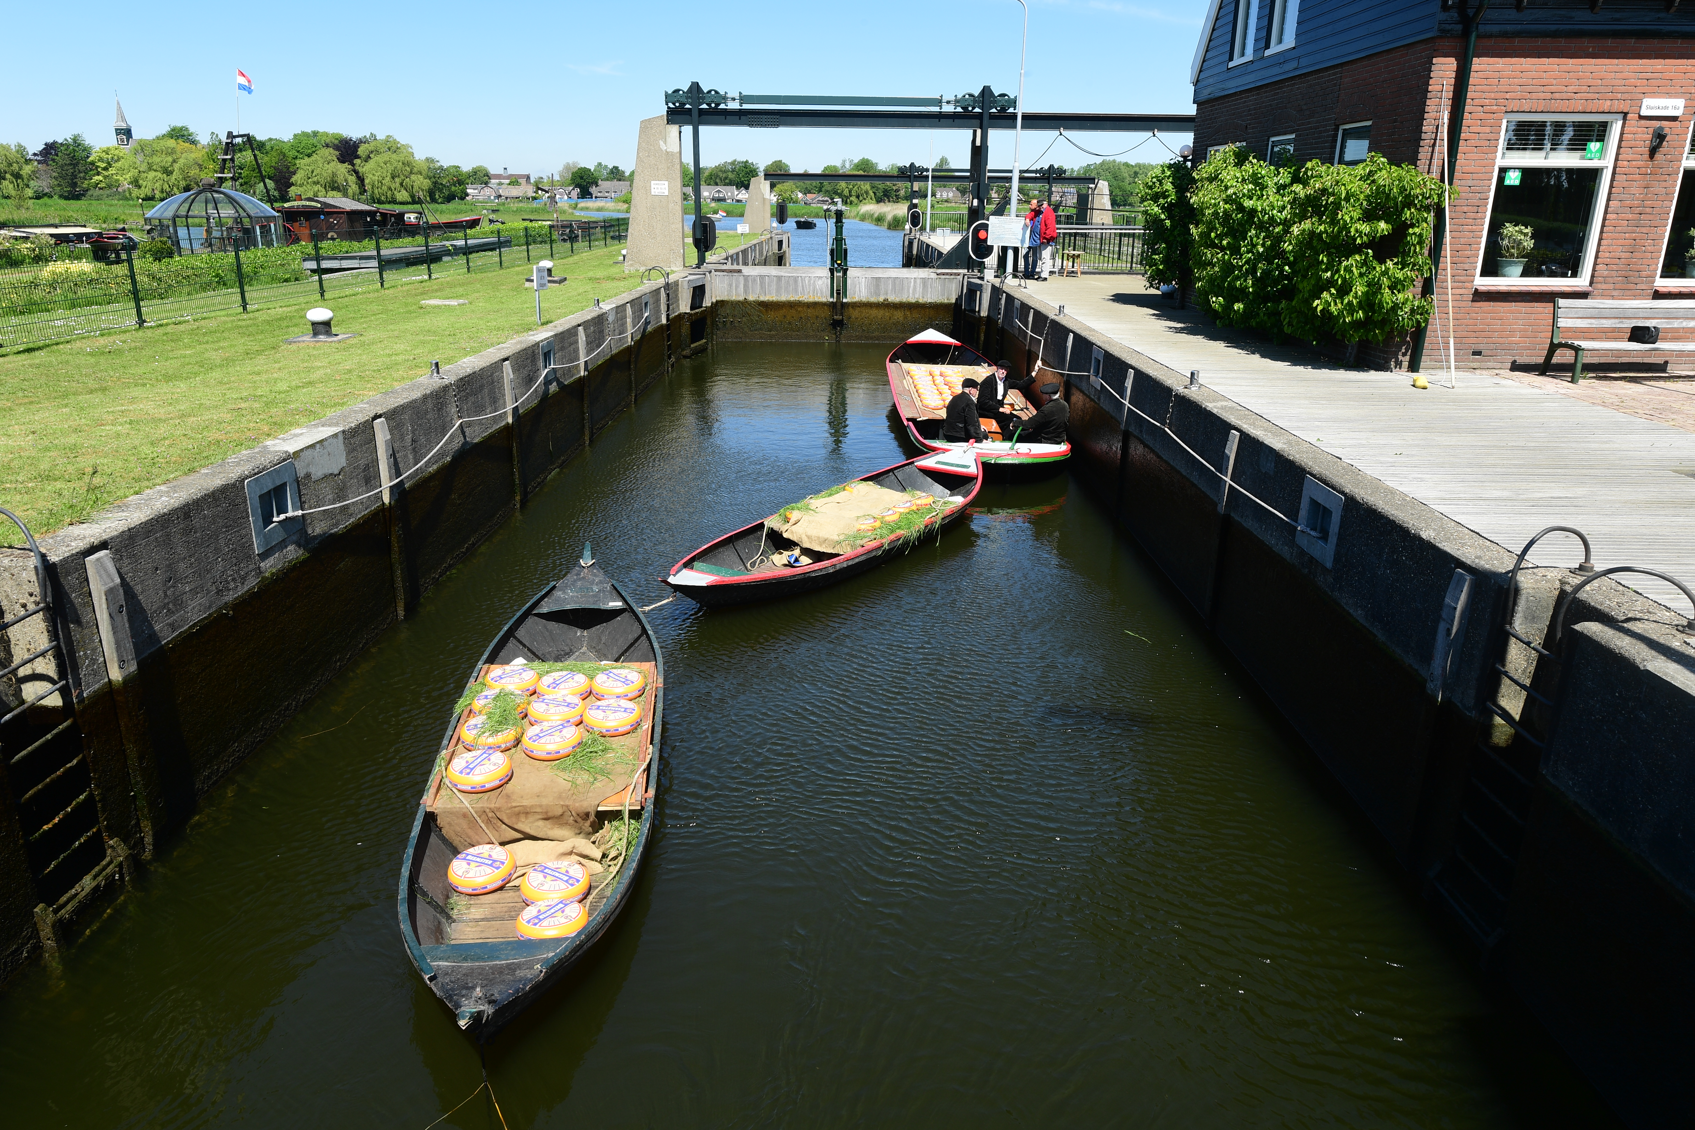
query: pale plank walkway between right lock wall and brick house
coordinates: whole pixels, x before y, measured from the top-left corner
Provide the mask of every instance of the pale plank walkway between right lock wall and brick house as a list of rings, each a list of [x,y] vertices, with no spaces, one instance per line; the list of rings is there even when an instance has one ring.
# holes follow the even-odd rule
[[[1488,373],[1446,386],[1436,335],[1429,390],[1407,373],[1344,369],[1176,310],[1141,276],[1053,278],[1012,290],[1066,313],[1517,554],[1541,529],[1575,525],[1595,566],[1659,569],[1695,584],[1695,434]],[[1551,535],[1536,564],[1571,566],[1575,539]],[[1615,578],[1688,615],[1673,586]]]

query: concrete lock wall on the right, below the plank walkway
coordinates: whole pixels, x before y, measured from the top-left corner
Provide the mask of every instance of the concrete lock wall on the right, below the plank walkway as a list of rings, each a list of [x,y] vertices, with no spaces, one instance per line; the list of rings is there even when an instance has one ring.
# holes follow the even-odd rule
[[[976,285],[980,286],[980,285]],[[1342,783],[1397,857],[1453,852],[1493,698],[1515,552],[1488,542],[1203,385],[1024,291],[968,290],[958,332],[1066,379],[1073,473],[1207,620]],[[981,295],[981,298],[980,298]],[[973,312],[981,300],[985,315]],[[1090,373],[1100,352],[1100,381]],[[1124,407],[1129,403],[1158,424]],[[1166,430],[1170,429],[1170,432]],[[1227,456],[1237,434],[1234,463]],[[1224,479],[1202,466],[1231,468]],[[1281,515],[1309,481],[1339,495],[1329,561]],[[1556,517],[1551,515],[1551,520]],[[1449,639],[1456,574],[1470,605]],[[1526,569],[1514,625],[1553,657],[1520,667],[1553,698],[1507,891],[1498,971],[1632,1125],[1695,1115],[1695,647],[1683,617],[1612,579]],[[1520,649],[1529,656],[1529,649]],[[1507,652],[1507,662],[1514,649]],[[1512,695],[1503,693],[1514,691]],[[1432,898],[1432,901],[1436,901]]]

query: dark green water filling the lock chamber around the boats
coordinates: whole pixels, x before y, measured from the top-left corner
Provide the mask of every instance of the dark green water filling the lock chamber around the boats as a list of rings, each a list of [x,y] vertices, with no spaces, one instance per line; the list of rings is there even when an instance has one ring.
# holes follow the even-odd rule
[[[205,798],[63,976],[0,993],[14,1127],[424,1127],[480,1083],[395,883],[444,712],[585,539],[641,600],[909,457],[880,349],[680,369]],[[507,1125],[1610,1122],[1061,476],[768,607],[656,610],[659,832],[488,1050]],[[483,1098],[444,1125],[498,1125]]]

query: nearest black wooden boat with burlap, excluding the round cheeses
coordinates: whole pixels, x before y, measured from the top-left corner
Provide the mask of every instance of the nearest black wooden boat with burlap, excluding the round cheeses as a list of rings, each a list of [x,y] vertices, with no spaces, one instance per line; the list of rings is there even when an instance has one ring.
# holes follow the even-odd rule
[[[571,800],[578,803],[583,796],[607,793],[588,801],[590,811],[593,823],[605,825],[602,830],[619,840],[615,849],[622,850],[622,859],[615,867],[592,876],[590,893],[583,900],[586,925],[566,939],[542,940],[519,937],[517,915],[525,903],[517,872],[495,893],[466,896],[449,888],[447,864],[458,852],[486,844],[492,835],[514,852],[524,844],[556,842],[512,840],[519,840],[525,830],[549,828],[580,817],[568,805],[549,810],[546,789],[551,784],[537,778],[553,774],[554,766],[564,766],[571,759],[541,762],[514,749],[508,754],[514,762],[512,783],[466,796],[444,779],[449,756],[461,749],[459,727],[471,717],[470,710],[453,712],[436,767],[419,801],[400,869],[400,933],[419,974],[447,1005],[459,1027],[478,1040],[486,1040],[510,1022],[607,933],[631,898],[653,839],[653,820],[646,817],[651,815],[658,781],[654,757],[659,749],[664,661],[646,617],[595,566],[586,546],[578,568],[542,590],[500,630],[471,669],[470,684],[481,679],[490,664],[520,661],[636,667],[647,676],[641,700],[644,720],[634,734],[610,739],[624,761],[607,761],[619,764],[620,771],[603,784],[590,783],[585,793],[578,786],[566,786],[564,778],[553,778],[559,781],[559,791],[571,793]],[[512,800],[502,798],[520,781],[527,783],[522,810],[515,806],[517,793]],[[607,825],[617,820],[624,823]],[[637,820],[639,828],[634,828]]]

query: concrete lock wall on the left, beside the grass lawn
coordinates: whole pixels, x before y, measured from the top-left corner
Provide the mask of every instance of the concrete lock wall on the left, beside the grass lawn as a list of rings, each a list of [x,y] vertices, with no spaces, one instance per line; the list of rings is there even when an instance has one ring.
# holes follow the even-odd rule
[[[714,271],[786,254],[786,234],[751,242],[41,539],[108,852],[151,856],[525,495],[703,349]],[[347,505],[258,530],[253,488],[276,485],[290,507]],[[0,554],[5,618],[36,591],[32,557]],[[32,654],[39,623],[0,632],[0,652]],[[59,678],[51,656],[31,671],[42,686]],[[17,700],[19,686],[0,690]],[[37,947],[36,906],[53,903],[34,884],[5,773],[0,976]]]

